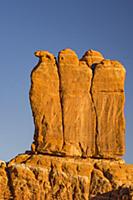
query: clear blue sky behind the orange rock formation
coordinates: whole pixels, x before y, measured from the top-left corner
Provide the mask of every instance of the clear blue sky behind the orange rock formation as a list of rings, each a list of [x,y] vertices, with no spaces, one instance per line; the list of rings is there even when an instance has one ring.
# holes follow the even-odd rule
[[[30,149],[34,126],[30,72],[37,49],[57,56],[88,49],[121,61],[126,78],[126,155],[133,163],[133,1],[12,0],[0,2],[0,159]]]

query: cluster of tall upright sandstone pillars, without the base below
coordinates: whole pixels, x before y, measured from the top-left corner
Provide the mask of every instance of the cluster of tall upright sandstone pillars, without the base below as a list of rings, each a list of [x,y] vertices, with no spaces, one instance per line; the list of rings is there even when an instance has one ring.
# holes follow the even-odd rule
[[[58,63],[46,51],[31,74],[35,123],[32,149],[66,156],[115,158],[125,152],[125,69],[88,50],[79,60],[71,49]]]

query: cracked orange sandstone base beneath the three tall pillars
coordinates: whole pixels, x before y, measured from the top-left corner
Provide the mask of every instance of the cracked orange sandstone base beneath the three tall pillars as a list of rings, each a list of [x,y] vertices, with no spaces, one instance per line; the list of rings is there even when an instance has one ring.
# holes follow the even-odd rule
[[[0,199],[102,200],[133,198],[133,165],[122,159],[22,154],[0,167]]]

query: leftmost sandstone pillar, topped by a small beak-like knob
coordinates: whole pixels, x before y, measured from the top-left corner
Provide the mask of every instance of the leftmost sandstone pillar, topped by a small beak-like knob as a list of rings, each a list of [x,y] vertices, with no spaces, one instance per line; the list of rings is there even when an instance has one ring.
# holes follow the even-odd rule
[[[60,152],[63,145],[59,77],[54,56],[37,51],[38,65],[31,74],[30,102],[35,123],[32,150]]]

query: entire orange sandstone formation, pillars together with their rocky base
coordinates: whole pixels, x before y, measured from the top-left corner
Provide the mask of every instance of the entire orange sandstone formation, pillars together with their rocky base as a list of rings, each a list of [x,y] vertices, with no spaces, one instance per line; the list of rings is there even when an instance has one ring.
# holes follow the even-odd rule
[[[58,61],[37,51],[30,102],[31,151],[0,162],[0,200],[131,200],[125,152],[125,69],[89,50]]]

